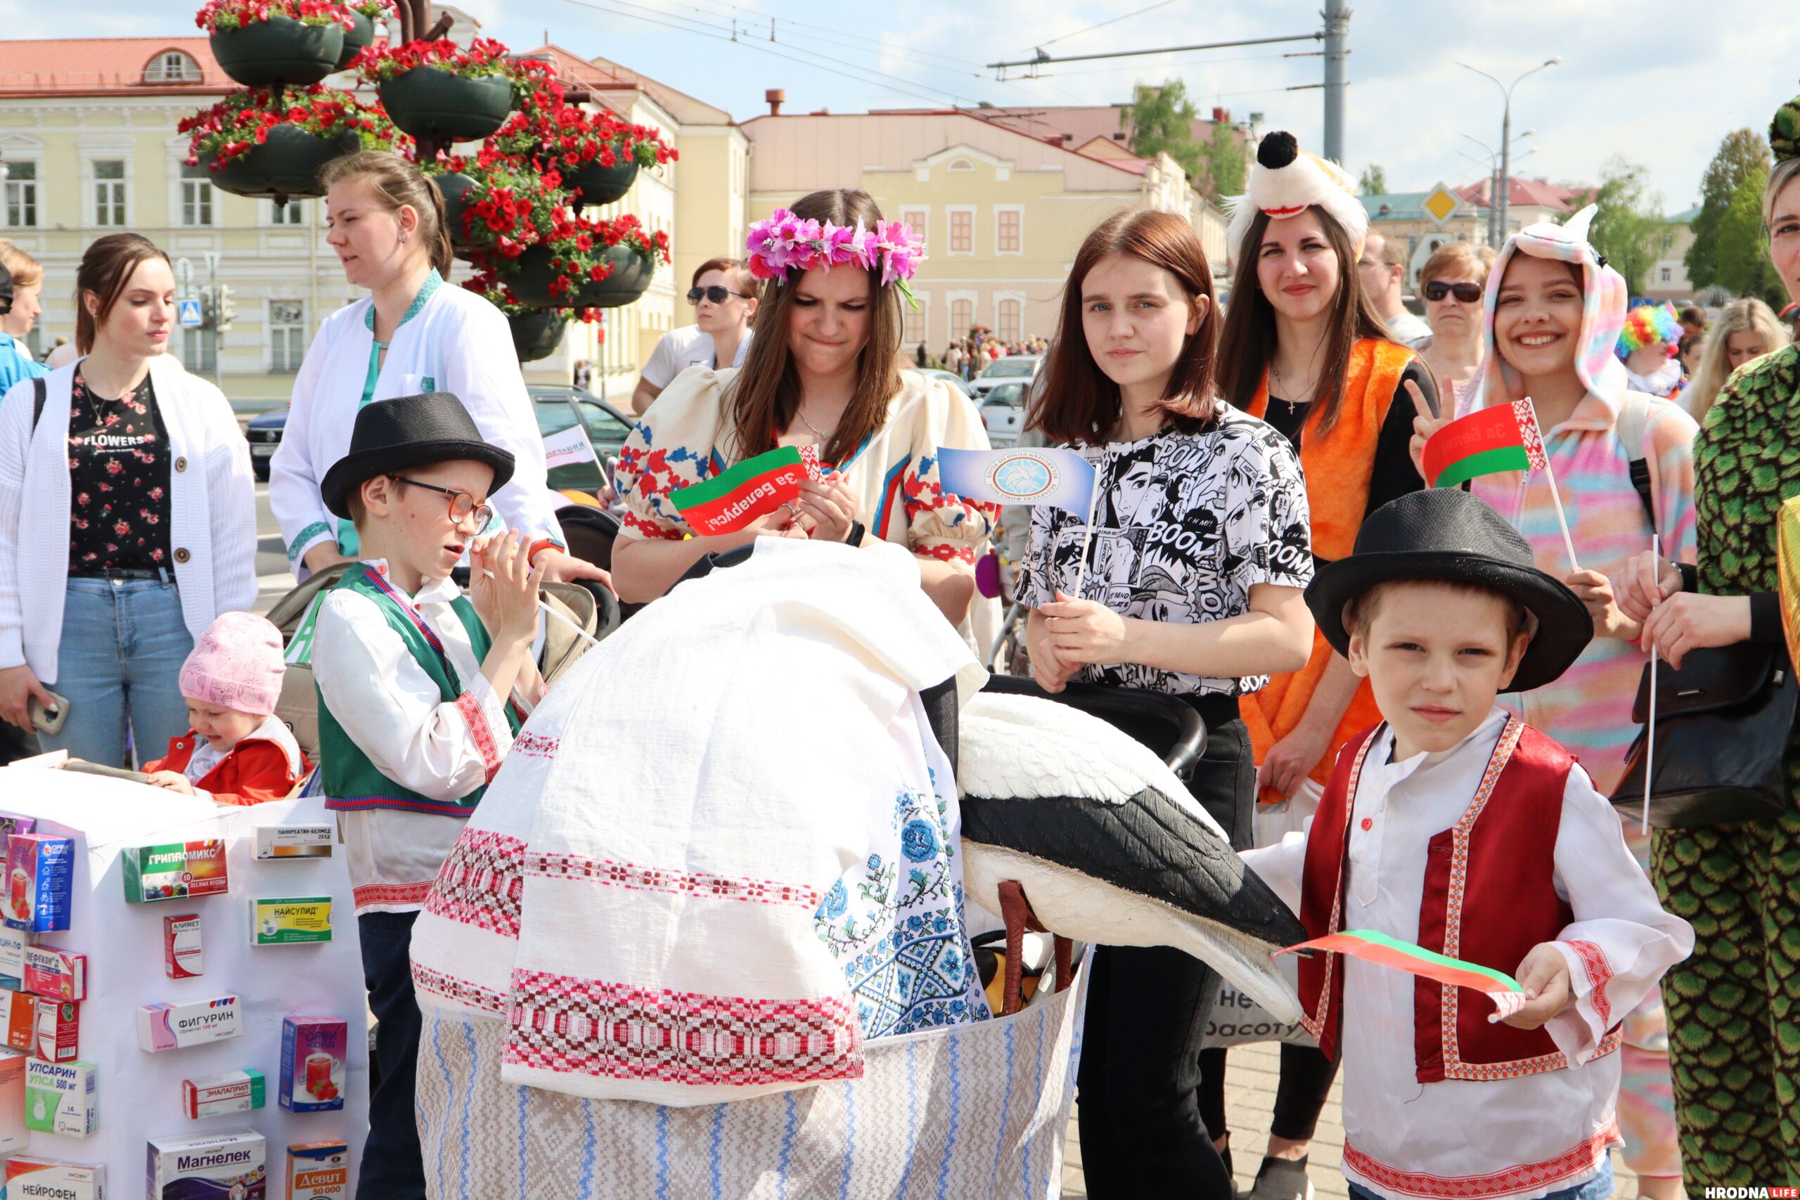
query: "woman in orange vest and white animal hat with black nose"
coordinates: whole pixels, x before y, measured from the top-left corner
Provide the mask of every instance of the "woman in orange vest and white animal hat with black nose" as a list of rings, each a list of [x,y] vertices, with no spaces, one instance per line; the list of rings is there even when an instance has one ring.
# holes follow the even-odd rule
[[[1436,405],[1431,371],[1388,338],[1363,293],[1355,266],[1366,232],[1368,212],[1337,164],[1303,153],[1291,133],[1262,139],[1249,193],[1226,232],[1235,272],[1219,381],[1228,401],[1278,428],[1300,452],[1312,554],[1321,561],[1350,554],[1368,513],[1424,486],[1408,450],[1409,392]],[[1258,826],[1271,826],[1274,838],[1318,808],[1345,741],[1381,720],[1368,682],[1318,635],[1305,667],[1276,675],[1244,696],[1240,711],[1256,757]],[[1219,1137],[1224,1060],[1222,1049],[1201,1054],[1201,1112]],[[1310,1196],[1307,1150],[1336,1072],[1312,1047],[1282,1047],[1255,1200]]]

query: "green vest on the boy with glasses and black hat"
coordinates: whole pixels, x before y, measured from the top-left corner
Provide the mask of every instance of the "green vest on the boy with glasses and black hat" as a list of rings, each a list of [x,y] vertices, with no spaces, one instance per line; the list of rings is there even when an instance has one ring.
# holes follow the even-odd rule
[[[331,587],[333,590],[360,592],[374,601],[374,606],[387,619],[387,628],[407,644],[407,653],[437,684],[437,696],[443,703],[450,703],[463,694],[463,684],[450,664],[450,657],[436,644],[436,633],[427,639],[427,633],[414,624],[412,615],[394,603],[383,587],[374,583],[365,567],[344,572],[344,578]],[[463,630],[468,631],[475,662],[481,662],[493,642],[488,637],[488,628],[475,615],[475,606],[468,603],[466,596],[457,596],[450,601],[450,610],[463,622]],[[317,689],[317,684],[313,687]],[[506,711],[506,721],[517,734],[518,718],[511,707]],[[486,784],[482,784],[457,801],[437,801],[400,786],[383,775],[369,761],[369,756],[351,741],[349,734],[344,732],[344,725],[338,723],[337,714],[326,703],[324,693],[319,693],[319,770],[324,777],[326,808],[335,810],[398,808],[412,813],[468,817],[481,801],[481,793],[486,792]]]

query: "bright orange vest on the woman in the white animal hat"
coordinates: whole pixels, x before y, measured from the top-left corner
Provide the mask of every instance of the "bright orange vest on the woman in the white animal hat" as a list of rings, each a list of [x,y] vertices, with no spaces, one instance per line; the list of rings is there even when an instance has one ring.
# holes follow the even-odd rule
[[[1393,392],[1400,387],[1400,376],[1415,358],[1413,351],[1393,342],[1363,338],[1350,349],[1350,369],[1345,372],[1345,398],[1337,408],[1337,423],[1332,432],[1319,435],[1319,414],[1314,412],[1300,434],[1300,466],[1307,475],[1307,507],[1312,513],[1312,552],[1334,561],[1348,558],[1355,547],[1357,529],[1368,511],[1368,484],[1375,475],[1375,441],[1381,426],[1393,407]],[[1249,414],[1262,417],[1269,412],[1269,376],[1264,374],[1251,399]],[[1307,666],[1287,675],[1276,675],[1269,685],[1251,693],[1238,702],[1244,725],[1249,732],[1251,748],[1256,761],[1269,756],[1269,747],[1294,732],[1300,718],[1312,702],[1312,693],[1332,660],[1332,648],[1323,633],[1312,635],[1312,655]],[[1325,756],[1312,768],[1312,779],[1325,783],[1337,750],[1357,734],[1381,720],[1375,707],[1375,694],[1364,682],[1355,689],[1350,707],[1337,721]],[[1287,797],[1269,792],[1260,797],[1265,804],[1276,804]]]

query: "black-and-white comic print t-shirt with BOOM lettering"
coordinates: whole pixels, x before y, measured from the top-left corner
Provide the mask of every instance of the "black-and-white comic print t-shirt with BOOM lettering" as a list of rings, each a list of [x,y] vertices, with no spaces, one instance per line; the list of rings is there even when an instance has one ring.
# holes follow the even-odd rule
[[[1300,459],[1282,434],[1226,408],[1201,434],[1165,428],[1136,443],[1084,446],[1100,500],[1084,599],[1143,621],[1197,624],[1249,612],[1258,583],[1312,583],[1312,516]],[[1075,594],[1082,518],[1039,506],[1019,563],[1019,601]],[[1076,676],[1174,694],[1242,696],[1269,678],[1211,678],[1121,662]]]

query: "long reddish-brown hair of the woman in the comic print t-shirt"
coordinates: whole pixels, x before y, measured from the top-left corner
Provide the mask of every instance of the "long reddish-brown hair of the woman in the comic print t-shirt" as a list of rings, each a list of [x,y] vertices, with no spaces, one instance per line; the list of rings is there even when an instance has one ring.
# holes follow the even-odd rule
[[[1120,385],[1094,362],[1082,327],[1082,284],[1087,272],[1109,254],[1129,254],[1150,266],[1161,266],[1181,284],[1192,302],[1206,297],[1201,327],[1181,344],[1181,356],[1163,389],[1163,414],[1183,434],[1195,434],[1213,423],[1219,394],[1213,365],[1219,351],[1219,308],[1213,304],[1213,273],[1193,227],[1179,216],[1150,209],[1125,209],[1100,221],[1080,252],[1069,282],[1062,286],[1062,311],[1057,338],[1049,344],[1049,362],[1042,383],[1033,389],[1028,428],[1044,430],[1058,443],[1105,441],[1120,419]],[[1192,311],[1192,309],[1190,309]]]

